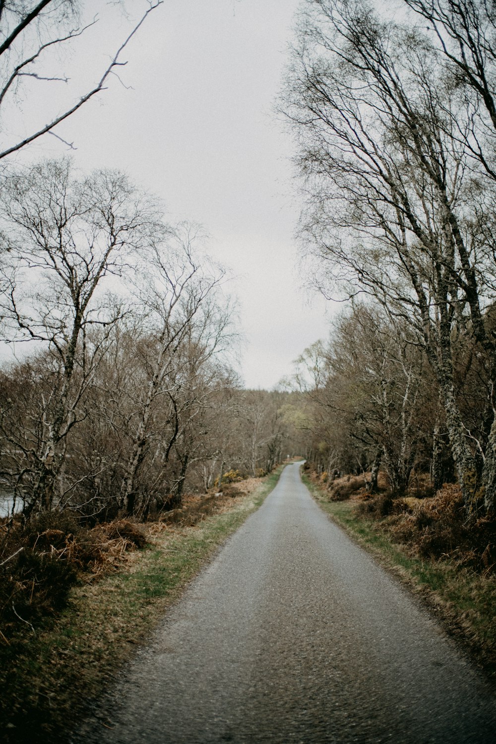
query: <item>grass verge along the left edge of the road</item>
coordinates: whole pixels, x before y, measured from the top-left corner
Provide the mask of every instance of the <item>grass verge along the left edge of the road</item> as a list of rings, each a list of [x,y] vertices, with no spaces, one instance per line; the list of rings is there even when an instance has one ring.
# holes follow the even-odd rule
[[[135,644],[277,484],[280,466],[247,496],[194,527],[154,525],[126,568],[77,586],[68,607],[0,647],[0,739],[57,744],[98,696]]]

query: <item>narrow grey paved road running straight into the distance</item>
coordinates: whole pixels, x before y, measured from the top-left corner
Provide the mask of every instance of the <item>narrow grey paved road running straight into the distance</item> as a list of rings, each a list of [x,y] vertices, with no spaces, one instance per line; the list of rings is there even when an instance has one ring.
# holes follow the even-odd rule
[[[482,744],[495,707],[294,464],[73,741]]]

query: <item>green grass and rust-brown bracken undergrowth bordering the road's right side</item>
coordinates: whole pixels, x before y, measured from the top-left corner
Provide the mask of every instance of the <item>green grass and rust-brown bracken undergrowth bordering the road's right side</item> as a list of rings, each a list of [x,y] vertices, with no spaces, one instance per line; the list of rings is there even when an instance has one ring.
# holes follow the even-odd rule
[[[463,525],[458,542],[456,530],[446,527],[450,509],[457,508],[456,493],[448,503],[454,487],[421,504],[416,498],[391,499],[387,493],[364,500],[359,490],[350,492],[347,500],[332,501],[315,479],[303,473],[303,481],[333,521],[428,604],[496,684],[496,573],[488,562],[489,548],[486,556],[484,548],[470,550]],[[439,513],[438,522],[422,527],[432,513]],[[486,539],[487,534],[480,544]]]

